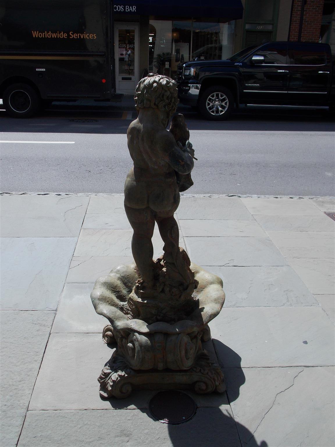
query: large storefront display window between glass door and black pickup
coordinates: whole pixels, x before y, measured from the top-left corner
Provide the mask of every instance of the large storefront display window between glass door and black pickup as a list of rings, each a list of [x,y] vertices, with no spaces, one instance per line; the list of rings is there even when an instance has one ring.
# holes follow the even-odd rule
[[[233,54],[233,46],[234,21],[152,20],[149,26],[149,72],[173,78],[179,63],[225,59]]]

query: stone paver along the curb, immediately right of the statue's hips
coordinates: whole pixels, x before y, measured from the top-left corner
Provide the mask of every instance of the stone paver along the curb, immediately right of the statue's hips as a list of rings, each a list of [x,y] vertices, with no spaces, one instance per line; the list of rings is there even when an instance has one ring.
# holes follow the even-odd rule
[[[180,197],[178,219],[253,220],[238,197]]]

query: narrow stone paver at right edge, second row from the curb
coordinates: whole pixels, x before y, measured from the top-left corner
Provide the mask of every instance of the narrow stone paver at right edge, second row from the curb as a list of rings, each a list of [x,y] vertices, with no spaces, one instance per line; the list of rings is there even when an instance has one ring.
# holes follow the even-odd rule
[[[265,231],[334,232],[335,222],[328,216],[255,215]]]

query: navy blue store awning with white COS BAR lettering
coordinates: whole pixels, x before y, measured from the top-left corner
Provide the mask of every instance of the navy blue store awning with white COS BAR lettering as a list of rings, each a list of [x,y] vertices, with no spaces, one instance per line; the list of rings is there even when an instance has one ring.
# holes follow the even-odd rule
[[[114,14],[234,20],[242,18],[243,6],[241,0],[114,0],[113,11]]]

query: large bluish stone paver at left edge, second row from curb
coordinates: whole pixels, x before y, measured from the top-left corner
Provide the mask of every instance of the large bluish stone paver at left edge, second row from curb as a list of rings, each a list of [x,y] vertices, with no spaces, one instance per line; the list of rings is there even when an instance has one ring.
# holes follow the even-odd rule
[[[76,237],[1,238],[3,309],[56,309]]]

